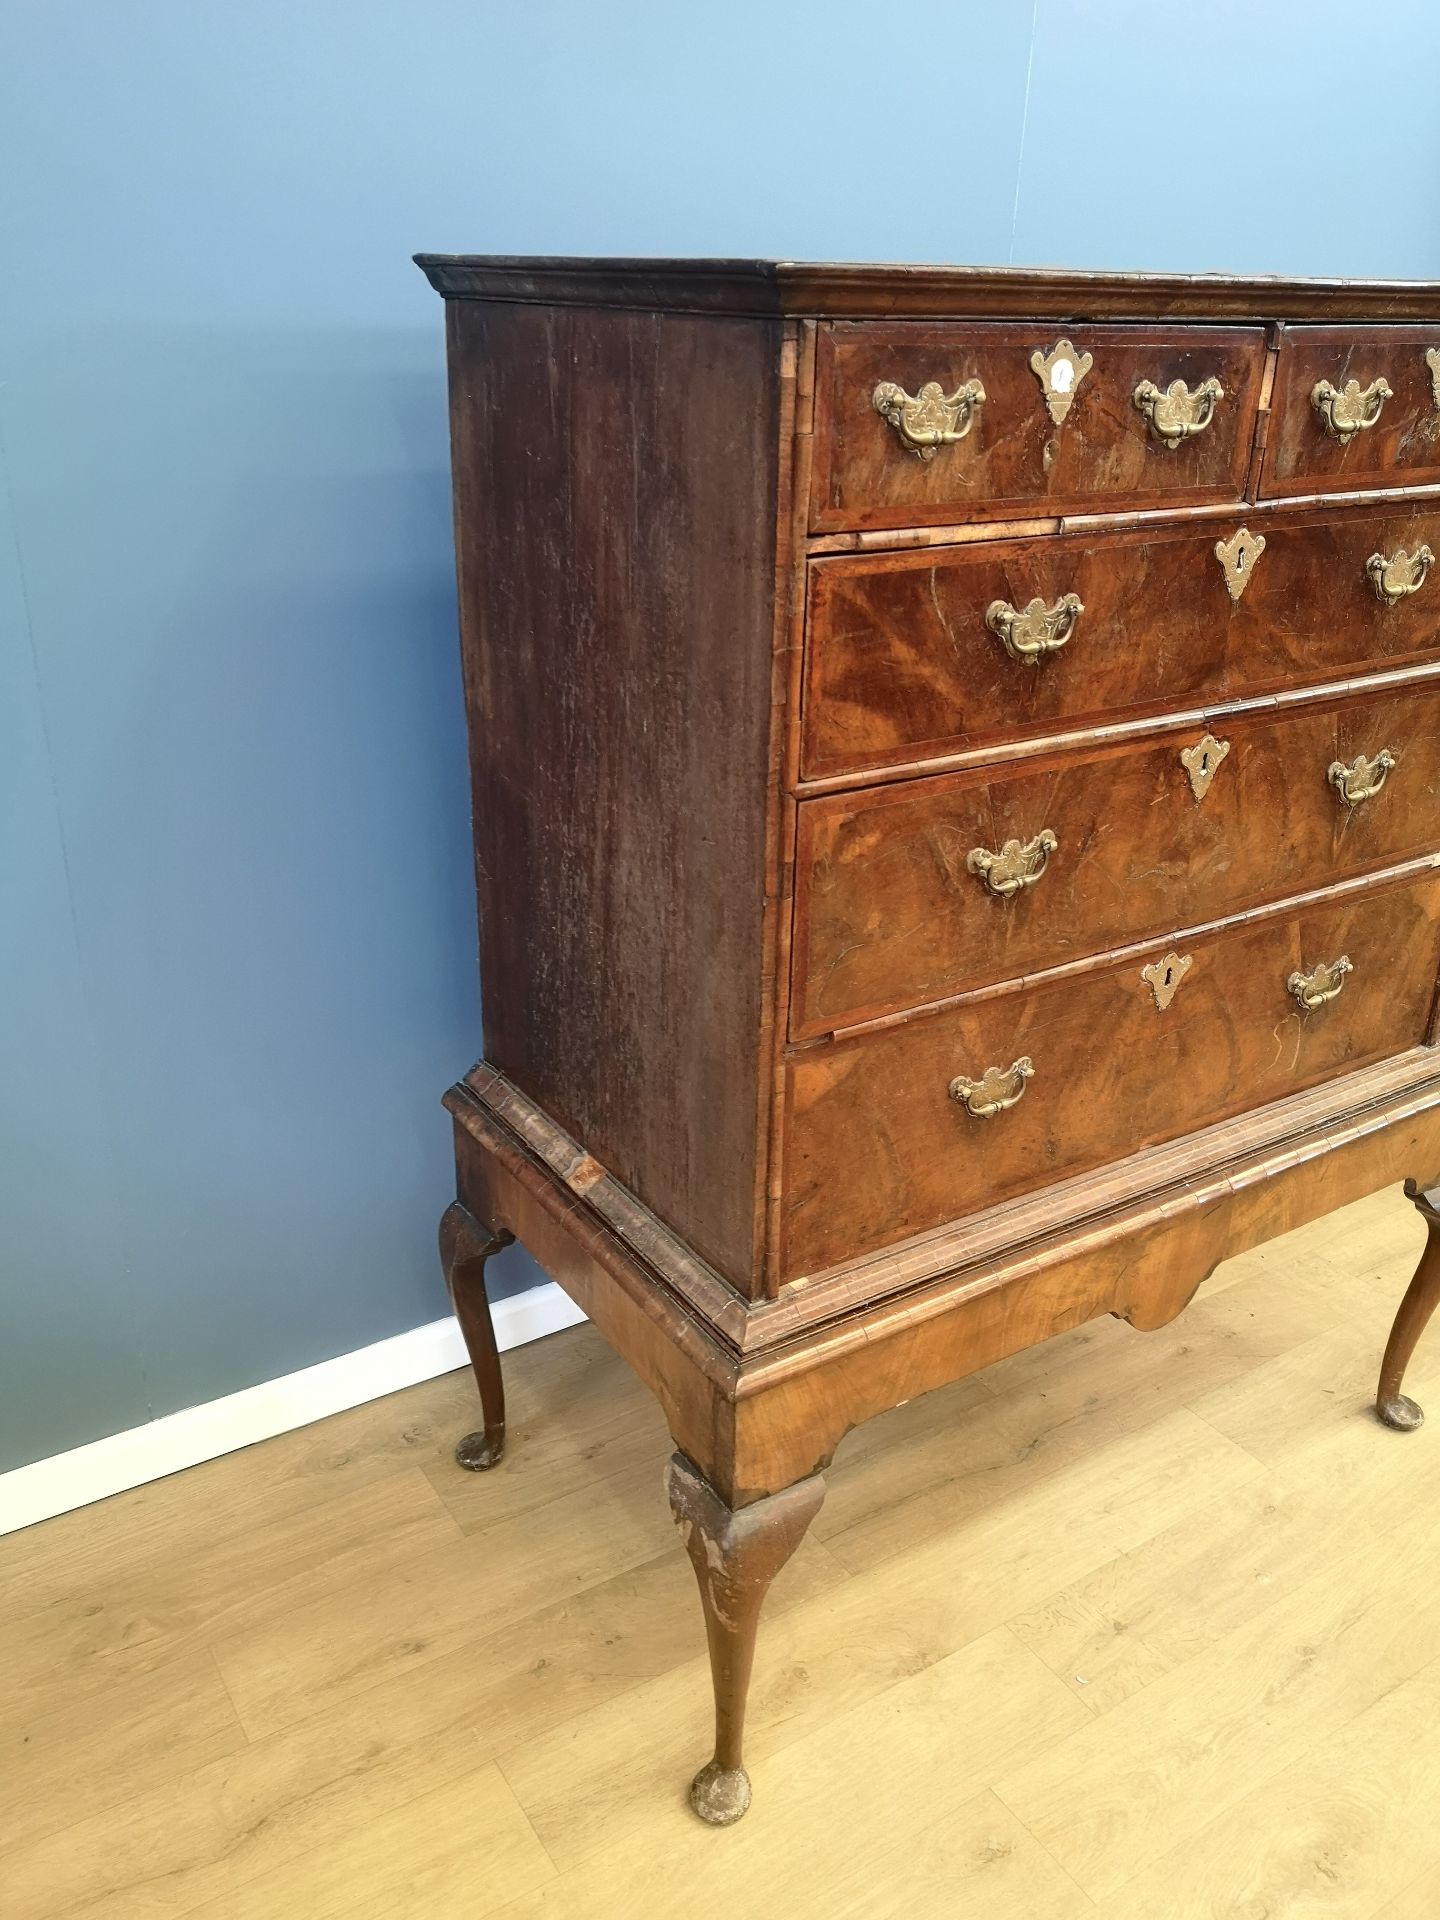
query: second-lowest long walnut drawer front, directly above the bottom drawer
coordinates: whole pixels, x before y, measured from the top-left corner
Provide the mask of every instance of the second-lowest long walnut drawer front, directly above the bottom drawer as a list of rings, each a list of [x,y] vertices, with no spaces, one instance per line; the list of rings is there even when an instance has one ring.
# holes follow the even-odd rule
[[[804,801],[791,1033],[1436,851],[1436,685]]]

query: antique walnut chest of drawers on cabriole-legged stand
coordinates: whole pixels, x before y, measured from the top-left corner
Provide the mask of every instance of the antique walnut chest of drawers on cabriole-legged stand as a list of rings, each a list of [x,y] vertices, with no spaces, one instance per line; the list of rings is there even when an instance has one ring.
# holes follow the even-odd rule
[[[1440,1296],[1440,286],[422,255],[511,1238],[655,1388],[716,1751],[858,1421],[1409,1177]],[[1434,580],[1430,570],[1434,568]]]

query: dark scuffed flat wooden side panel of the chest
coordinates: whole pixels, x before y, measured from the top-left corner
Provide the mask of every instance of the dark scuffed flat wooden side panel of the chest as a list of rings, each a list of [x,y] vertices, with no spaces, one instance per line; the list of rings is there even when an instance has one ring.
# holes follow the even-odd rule
[[[486,1058],[751,1292],[780,328],[449,321]]]

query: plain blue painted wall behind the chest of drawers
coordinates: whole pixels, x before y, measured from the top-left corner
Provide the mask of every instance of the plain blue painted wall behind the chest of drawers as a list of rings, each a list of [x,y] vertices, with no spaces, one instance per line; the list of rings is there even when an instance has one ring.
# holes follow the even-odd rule
[[[478,998],[411,252],[1440,275],[1430,40],[1425,0],[6,8],[0,1467],[444,1311]]]

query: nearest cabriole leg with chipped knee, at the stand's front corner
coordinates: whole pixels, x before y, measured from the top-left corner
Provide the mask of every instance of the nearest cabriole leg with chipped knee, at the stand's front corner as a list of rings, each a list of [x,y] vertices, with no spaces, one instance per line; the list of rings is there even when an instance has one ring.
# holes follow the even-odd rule
[[[714,1680],[714,1759],[695,1774],[689,1803],[710,1826],[732,1826],[751,1805],[741,1738],[760,1607],[820,1511],[826,1482],[816,1473],[732,1511],[676,1453],[666,1467],[666,1492],[701,1586]]]

